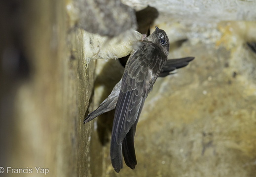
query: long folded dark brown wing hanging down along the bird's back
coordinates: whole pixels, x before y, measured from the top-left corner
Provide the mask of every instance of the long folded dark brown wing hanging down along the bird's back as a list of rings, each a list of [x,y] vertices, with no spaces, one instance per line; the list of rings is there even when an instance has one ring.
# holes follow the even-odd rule
[[[152,89],[166,59],[167,57],[156,45],[145,42],[127,61],[116,104],[110,145],[111,162],[116,172],[122,168],[122,142],[132,126],[133,130],[129,132],[123,148],[127,148],[124,152],[132,152],[124,157],[129,158],[131,155],[132,161],[135,159],[136,162],[135,153],[133,153],[135,122],[138,121],[146,96]],[[126,159],[125,162],[129,160]],[[130,167],[133,168],[133,166]]]

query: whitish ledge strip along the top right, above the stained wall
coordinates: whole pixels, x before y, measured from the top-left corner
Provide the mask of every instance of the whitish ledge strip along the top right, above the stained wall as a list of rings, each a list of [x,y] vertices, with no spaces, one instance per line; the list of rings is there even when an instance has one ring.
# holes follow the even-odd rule
[[[147,5],[171,21],[219,22],[255,21],[255,0],[122,0],[123,3],[140,10]]]

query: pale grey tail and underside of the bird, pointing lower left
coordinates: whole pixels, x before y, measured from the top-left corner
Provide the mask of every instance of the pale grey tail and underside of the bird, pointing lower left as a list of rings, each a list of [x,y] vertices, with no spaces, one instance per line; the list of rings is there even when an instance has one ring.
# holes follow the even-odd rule
[[[88,121],[91,121],[92,119],[102,115],[103,113],[109,112],[113,109],[115,109],[117,99],[118,99],[118,94],[121,89],[121,84],[122,84],[122,79],[114,86],[113,90],[111,91],[110,95],[108,98],[106,98],[99,108],[88,114],[88,116],[83,120],[83,123],[86,123]]]

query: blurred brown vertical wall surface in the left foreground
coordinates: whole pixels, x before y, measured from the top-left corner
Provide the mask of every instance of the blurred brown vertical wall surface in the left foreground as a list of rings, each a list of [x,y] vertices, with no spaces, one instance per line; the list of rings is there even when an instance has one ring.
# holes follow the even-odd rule
[[[0,9],[0,176],[90,177],[92,126],[82,122],[95,64],[86,65],[83,30],[67,26],[64,1],[1,1]]]

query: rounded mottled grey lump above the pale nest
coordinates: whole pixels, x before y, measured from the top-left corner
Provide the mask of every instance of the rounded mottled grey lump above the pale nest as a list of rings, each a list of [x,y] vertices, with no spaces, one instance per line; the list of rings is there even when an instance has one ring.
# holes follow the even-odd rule
[[[137,27],[133,8],[120,0],[73,0],[68,9],[75,26],[102,36],[112,38]]]

